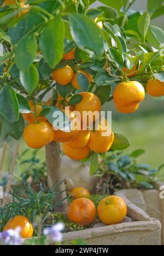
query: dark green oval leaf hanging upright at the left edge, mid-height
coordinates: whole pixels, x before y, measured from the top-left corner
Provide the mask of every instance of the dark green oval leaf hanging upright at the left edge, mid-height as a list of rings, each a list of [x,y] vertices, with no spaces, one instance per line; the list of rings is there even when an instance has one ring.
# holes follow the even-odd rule
[[[8,85],[5,85],[0,91],[0,113],[9,121],[15,123],[19,119],[19,104],[16,93]]]

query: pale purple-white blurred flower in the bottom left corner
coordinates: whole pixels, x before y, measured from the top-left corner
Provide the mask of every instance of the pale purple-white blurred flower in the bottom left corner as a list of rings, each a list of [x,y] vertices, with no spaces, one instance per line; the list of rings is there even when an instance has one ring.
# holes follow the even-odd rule
[[[0,233],[0,238],[4,239],[5,245],[22,245],[22,237],[20,235],[21,228],[9,229]]]

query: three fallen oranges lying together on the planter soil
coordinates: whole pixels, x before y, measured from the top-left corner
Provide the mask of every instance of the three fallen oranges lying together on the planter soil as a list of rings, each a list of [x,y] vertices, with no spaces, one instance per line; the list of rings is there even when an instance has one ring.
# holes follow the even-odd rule
[[[68,219],[74,223],[86,226],[96,218],[96,207],[88,199],[90,191],[78,187],[71,191],[73,201],[68,207]],[[125,201],[119,196],[107,196],[97,207],[98,218],[106,225],[113,225],[122,222],[127,214]]]

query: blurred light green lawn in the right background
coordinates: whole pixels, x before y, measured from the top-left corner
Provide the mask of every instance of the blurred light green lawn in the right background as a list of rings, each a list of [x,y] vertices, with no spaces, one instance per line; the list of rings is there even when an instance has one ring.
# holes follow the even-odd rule
[[[113,130],[116,133],[122,133],[129,139],[131,146],[125,150],[125,153],[135,149],[145,149],[145,154],[139,159],[141,163],[147,163],[152,167],[163,164],[163,114],[141,116],[135,119],[118,119],[113,121]]]

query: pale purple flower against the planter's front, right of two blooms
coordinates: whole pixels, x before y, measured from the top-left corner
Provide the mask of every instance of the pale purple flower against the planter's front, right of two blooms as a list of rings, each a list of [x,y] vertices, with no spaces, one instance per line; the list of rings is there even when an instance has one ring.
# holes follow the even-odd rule
[[[43,230],[43,234],[51,238],[53,242],[61,242],[63,235],[62,231],[65,229],[65,225],[63,223],[57,223],[51,228],[45,228]]]

